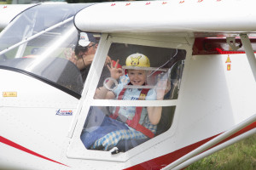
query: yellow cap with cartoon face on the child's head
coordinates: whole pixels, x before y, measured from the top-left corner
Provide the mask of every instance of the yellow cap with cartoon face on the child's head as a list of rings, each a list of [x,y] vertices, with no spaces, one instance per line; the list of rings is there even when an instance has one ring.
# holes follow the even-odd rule
[[[149,59],[144,54],[131,54],[127,57],[126,66],[150,67]]]

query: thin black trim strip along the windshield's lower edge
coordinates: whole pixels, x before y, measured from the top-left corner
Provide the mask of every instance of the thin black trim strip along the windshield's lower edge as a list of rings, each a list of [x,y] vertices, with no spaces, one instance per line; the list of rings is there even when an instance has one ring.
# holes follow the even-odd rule
[[[81,94],[77,94],[75,92],[73,92],[72,90],[68,89],[68,88],[64,88],[63,86],[55,83],[55,82],[52,82],[52,81],[49,81],[48,79],[44,78],[44,77],[39,77],[38,75],[36,74],[33,74],[31,72],[28,72],[28,71],[23,71],[23,70],[20,70],[20,69],[17,69],[17,68],[13,68],[13,67],[9,67],[9,66],[3,66],[3,65],[0,65],[0,69],[3,69],[3,70],[8,70],[8,71],[15,71],[15,72],[19,72],[21,74],[24,74],[26,76],[29,76],[29,77],[33,77],[33,78],[36,78],[38,79],[39,81],[41,82],[45,82],[47,84],[49,84],[50,86],[53,86],[55,88],[58,88],[60,89],[61,91],[67,93],[67,94],[70,94],[72,95],[73,97],[75,97],[76,99],[80,99],[81,98]]]

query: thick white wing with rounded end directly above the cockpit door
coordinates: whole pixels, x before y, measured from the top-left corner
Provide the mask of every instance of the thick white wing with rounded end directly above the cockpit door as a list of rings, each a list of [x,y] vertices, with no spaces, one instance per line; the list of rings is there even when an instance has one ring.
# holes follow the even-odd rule
[[[75,16],[75,25],[91,32],[177,32],[226,35],[256,31],[253,0],[98,3]],[[228,7],[228,8],[227,8]],[[242,10],[246,9],[246,10]],[[95,11],[101,11],[96,13]],[[131,12],[132,11],[132,12]],[[86,17],[94,14],[93,17]]]

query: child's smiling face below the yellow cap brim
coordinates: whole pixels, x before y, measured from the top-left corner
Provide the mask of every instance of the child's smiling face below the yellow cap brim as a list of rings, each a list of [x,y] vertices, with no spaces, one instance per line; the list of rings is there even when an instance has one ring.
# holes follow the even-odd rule
[[[147,72],[143,70],[128,70],[128,77],[133,85],[142,86],[147,79]]]

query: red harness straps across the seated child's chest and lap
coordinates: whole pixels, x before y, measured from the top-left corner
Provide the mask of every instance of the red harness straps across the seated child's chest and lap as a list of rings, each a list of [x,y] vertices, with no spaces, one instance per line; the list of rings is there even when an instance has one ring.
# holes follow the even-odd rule
[[[125,90],[126,88],[123,88],[122,91],[120,92],[119,96],[118,96],[118,99],[123,99],[124,97],[124,94],[125,94]],[[147,94],[148,94],[148,91],[149,91],[149,88],[143,88],[140,96],[139,96],[139,99],[145,99]],[[113,119],[117,119],[118,116],[119,116],[119,109],[120,107],[117,106],[115,108],[115,112],[113,115],[111,115],[110,117],[113,118]],[[139,123],[140,119],[141,119],[141,115],[142,115],[142,111],[143,111],[143,107],[136,107],[136,113],[135,113],[135,116],[133,116],[132,120],[126,120],[126,124],[129,126],[129,127],[132,127],[134,129],[136,129],[137,131],[145,134],[146,136],[148,136],[148,138],[153,138],[154,137],[154,133],[152,133],[148,128],[146,127],[143,127],[143,125],[141,125]]]

